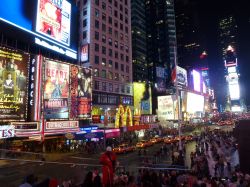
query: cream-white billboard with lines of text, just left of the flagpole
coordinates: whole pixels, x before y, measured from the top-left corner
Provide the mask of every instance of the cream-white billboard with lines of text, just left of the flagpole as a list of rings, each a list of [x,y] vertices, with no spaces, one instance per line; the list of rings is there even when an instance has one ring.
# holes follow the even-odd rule
[[[176,98],[173,95],[158,96],[158,120],[175,120],[178,119],[178,108]]]

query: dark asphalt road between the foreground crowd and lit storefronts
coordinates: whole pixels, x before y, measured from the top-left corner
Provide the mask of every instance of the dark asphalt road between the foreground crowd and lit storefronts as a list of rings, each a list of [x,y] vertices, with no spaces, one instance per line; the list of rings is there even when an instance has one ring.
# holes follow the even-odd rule
[[[147,157],[151,158],[160,149],[163,144],[155,144],[147,148]],[[72,154],[65,155],[60,160],[53,163],[41,164],[39,162],[27,161],[9,161],[9,165],[0,168],[0,186],[16,187],[22,183],[22,180],[28,174],[34,174],[38,181],[48,177],[59,180],[73,179],[76,183],[82,183],[87,171],[93,168],[99,168],[100,154]],[[126,171],[136,172],[137,167],[141,166],[142,158],[139,157],[138,151],[118,155],[118,161],[121,166],[126,167]],[[161,163],[171,164],[171,156],[165,157]]]

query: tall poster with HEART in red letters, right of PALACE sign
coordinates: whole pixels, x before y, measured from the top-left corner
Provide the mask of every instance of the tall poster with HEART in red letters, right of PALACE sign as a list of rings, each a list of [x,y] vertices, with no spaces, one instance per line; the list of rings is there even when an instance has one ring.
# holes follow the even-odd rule
[[[69,65],[44,59],[44,118],[69,118]]]

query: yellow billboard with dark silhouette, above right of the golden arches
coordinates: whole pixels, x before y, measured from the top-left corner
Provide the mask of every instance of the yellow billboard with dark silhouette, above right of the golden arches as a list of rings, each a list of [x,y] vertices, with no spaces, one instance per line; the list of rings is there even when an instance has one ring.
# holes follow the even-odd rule
[[[146,83],[133,84],[135,115],[152,114],[151,87]]]

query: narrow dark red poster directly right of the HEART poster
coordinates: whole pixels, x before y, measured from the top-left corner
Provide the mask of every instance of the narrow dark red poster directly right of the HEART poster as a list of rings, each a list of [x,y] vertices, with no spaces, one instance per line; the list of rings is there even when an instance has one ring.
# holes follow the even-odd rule
[[[71,66],[71,119],[91,118],[91,70]]]

